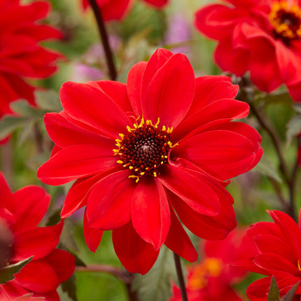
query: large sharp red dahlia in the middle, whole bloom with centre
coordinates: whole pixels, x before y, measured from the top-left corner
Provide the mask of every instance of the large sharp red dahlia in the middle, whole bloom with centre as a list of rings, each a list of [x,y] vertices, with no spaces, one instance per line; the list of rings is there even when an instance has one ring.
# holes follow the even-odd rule
[[[195,78],[183,54],[157,50],[135,64],[127,84],[65,83],[64,111],[45,115],[55,142],[38,169],[50,185],[76,180],[62,217],[87,205],[84,231],[95,251],[103,230],[130,272],[144,274],[160,246],[192,262],[197,252],[179,223],[206,239],[235,228],[230,179],[260,160],[260,136],[244,123],[248,105],[224,76]]]

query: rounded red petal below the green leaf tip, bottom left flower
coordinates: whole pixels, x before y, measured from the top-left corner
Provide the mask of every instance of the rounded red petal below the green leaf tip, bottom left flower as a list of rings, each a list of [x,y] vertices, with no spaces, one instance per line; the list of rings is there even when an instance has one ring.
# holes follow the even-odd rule
[[[38,271],[38,273],[36,272]],[[15,279],[27,290],[37,293],[48,293],[59,286],[59,278],[55,270],[44,260],[31,260],[20,273],[15,274]]]

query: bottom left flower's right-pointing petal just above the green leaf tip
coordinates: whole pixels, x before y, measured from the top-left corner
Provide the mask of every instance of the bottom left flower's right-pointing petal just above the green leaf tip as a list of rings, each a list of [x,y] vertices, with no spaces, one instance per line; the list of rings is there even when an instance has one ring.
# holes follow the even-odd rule
[[[14,260],[23,260],[34,255],[43,258],[59,243],[59,234],[52,227],[38,227],[15,234]]]

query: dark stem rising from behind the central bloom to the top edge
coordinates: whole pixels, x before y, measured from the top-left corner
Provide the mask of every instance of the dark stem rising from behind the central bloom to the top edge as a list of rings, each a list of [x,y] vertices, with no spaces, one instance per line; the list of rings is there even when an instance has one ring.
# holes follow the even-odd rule
[[[90,6],[92,7],[95,19],[97,21],[97,26],[99,30],[99,36],[102,40],[102,45],[104,47],[104,53],[106,55],[106,64],[109,69],[109,74],[111,80],[116,80],[117,72],[113,61],[113,54],[109,43],[108,34],[106,32],[106,26],[104,25],[104,19],[102,18],[102,12],[96,3],[96,0],[89,0]]]

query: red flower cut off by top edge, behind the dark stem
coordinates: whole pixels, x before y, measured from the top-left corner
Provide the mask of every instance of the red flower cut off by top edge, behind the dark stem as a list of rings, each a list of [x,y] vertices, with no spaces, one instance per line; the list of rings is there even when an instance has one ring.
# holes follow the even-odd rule
[[[154,6],[155,8],[162,8],[168,0],[143,0],[144,2]],[[121,20],[130,12],[134,5],[134,0],[97,0],[97,4],[102,12],[104,21]],[[87,9],[89,6],[88,0],[83,0],[83,8]]]

